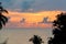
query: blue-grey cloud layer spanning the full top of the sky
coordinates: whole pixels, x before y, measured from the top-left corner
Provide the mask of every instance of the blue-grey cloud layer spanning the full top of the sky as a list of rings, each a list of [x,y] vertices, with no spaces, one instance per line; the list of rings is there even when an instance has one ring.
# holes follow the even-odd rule
[[[0,0],[7,9],[66,10],[66,0]]]

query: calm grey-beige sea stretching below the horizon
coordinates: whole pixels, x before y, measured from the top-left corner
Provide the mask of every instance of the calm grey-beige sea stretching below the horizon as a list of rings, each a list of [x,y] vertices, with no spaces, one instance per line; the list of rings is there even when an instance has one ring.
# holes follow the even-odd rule
[[[52,35],[52,29],[2,29],[0,31],[0,43],[8,38],[8,44],[33,44],[29,42],[33,35],[38,35],[47,44],[48,37]]]

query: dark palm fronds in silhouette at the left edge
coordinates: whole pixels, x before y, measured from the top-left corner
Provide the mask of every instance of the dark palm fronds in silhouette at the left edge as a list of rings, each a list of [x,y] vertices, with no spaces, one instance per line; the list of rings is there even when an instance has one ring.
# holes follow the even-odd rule
[[[8,18],[3,15],[2,12],[8,13],[8,11],[2,8],[0,2],[0,30],[2,29],[2,25],[6,25],[6,23],[8,22]]]

